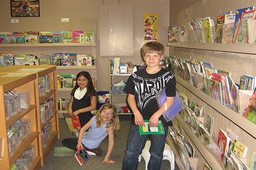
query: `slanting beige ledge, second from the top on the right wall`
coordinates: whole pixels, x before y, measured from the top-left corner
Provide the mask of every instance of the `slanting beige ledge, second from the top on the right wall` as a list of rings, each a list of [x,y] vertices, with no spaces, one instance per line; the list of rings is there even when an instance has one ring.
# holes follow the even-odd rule
[[[245,133],[251,135],[253,138],[256,138],[256,130],[255,130],[255,128],[252,128],[252,127],[256,126],[254,123],[252,123],[248,119],[242,117],[237,112],[234,112],[227,106],[222,105],[220,102],[211,98],[210,96],[205,94],[203,91],[200,91],[196,87],[193,87],[191,84],[189,84],[188,82],[181,79],[181,77],[176,75],[175,79],[176,79],[177,83],[181,84],[181,86],[185,87],[192,94],[196,95],[202,101],[207,103],[207,105],[211,106],[213,109],[217,110],[220,114],[225,116],[231,122],[235,123],[238,127],[240,127],[242,130],[244,130]],[[241,121],[241,119],[243,119],[243,121]]]

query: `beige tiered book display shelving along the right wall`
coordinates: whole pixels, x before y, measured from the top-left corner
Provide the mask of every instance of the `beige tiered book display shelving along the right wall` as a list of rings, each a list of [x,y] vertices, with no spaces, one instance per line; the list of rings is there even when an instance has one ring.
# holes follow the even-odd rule
[[[191,55],[192,58],[197,59],[198,62],[211,62],[216,69],[232,72],[234,81],[238,82],[239,76],[242,74],[255,76],[249,69],[252,65],[250,65],[252,58],[255,58],[256,56],[255,48],[253,48],[252,45],[253,44],[168,43],[167,46],[171,47],[170,55],[174,55],[177,58],[185,58],[185,55],[188,54]],[[223,65],[226,61],[229,62]],[[239,61],[244,62],[239,64],[237,63]],[[248,65],[248,68],[245,68],[244,65]],[[217,144],[218,131],[220,128],[223,130],[226,130],[226,128],[232,130],[237,134],[237,140],[248,147],[247,156],[246,158],[241,158],[241,161],[249,166],[251,154],[252,152],[255,152],[255,147],[253,146],[256,145],[256,124],[241,116],[243,109],[240,110],[240,113],[235,112],[229,107],[222,105],[219,101],[211,98],[203,91],[192,86],[181,77],[175,75],[175,78],[177,81],[177,90],[180,90],[193,102],[197,102],[203,106],[203,116],[198,117],[198,119],[206,125],[207,114],[214,117],[213,130],[211,134],[212,140]],[[180,114],[173,119],[173,124],[176,127],[182,127],[182,135],[184,135],[185,141],[189,141],[195,148],[194,157],[188,158],[190,163],[193,164],[194,169],[203,169],[203,163],[207,163],[212,170],[225,170],[223,166],[224,164],[218,158],[217,154],[206,145],[207,138],[200,140],[199,137],[196,136],[196,133],[191,130],[192,128],[189,123],[184,121],[184,118],[182,118]],[[184,158],[181,158],[179,149],[170,134],[166,141],[173,148],[175,159],[180,170],[186,169],[186,165],[183,161]]]

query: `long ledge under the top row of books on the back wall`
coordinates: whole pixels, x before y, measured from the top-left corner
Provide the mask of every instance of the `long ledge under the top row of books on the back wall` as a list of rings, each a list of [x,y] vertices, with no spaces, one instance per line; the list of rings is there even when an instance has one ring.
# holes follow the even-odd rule
[[[96,43],[6,43],[0,47],[75,47],[96,46]]]

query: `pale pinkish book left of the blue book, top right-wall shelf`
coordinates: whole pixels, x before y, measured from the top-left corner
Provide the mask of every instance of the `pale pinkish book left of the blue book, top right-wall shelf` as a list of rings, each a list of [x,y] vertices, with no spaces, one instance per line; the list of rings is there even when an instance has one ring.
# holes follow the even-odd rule
[[[234,29],[235,16],[236,14],[225,15],[222,43],[232,43],[232,40],[235,34],[235,29]]]

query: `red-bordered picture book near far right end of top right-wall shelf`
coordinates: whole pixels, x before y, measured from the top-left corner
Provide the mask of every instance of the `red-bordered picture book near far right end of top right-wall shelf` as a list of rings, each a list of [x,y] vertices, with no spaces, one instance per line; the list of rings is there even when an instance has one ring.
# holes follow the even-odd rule
[[[247,28],[246,28],[246,20],[247,19],[255,19],[256,11],[248,11],[244,12],[241,17],[241,21],[237,25],[235,36],[233,43],[247,43]]]

